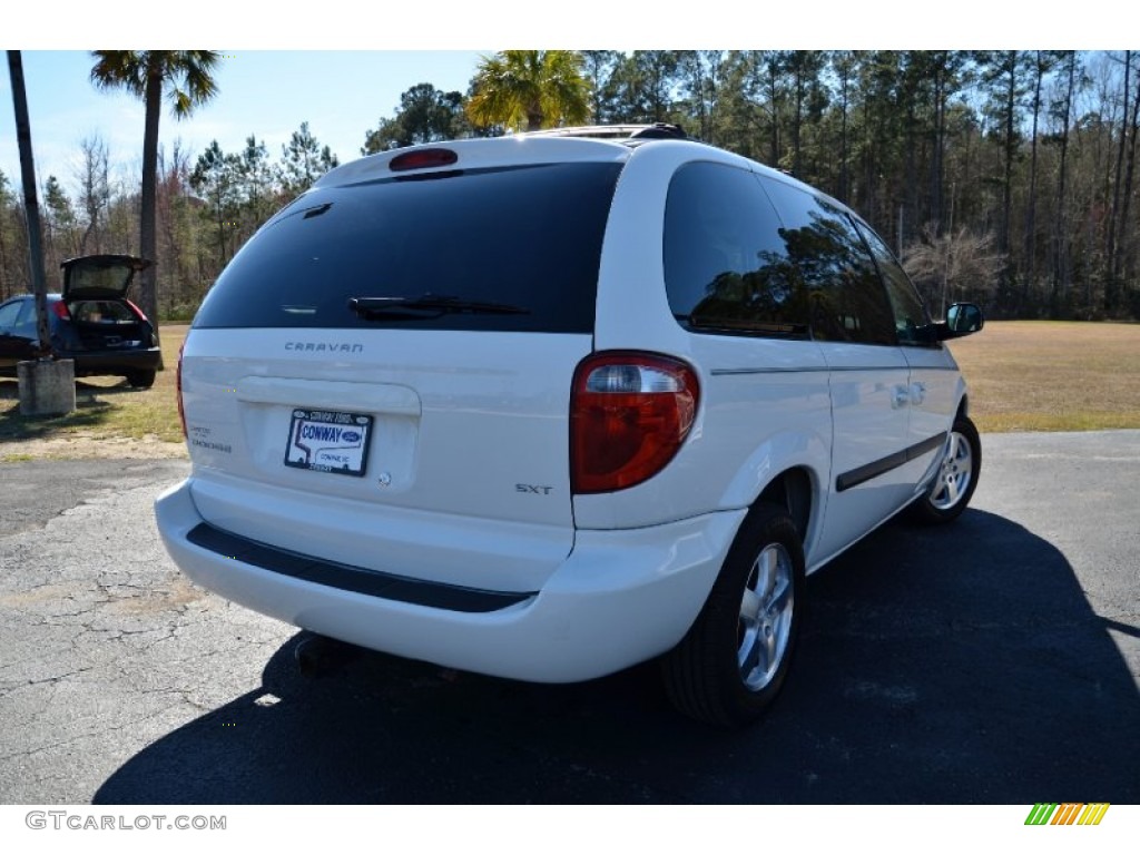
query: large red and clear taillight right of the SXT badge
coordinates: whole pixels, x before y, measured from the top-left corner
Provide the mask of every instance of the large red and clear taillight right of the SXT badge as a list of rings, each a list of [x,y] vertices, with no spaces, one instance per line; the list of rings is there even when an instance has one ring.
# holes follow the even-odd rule
[[[649,480],[677,454],[697,416],[697,374],[669,357],[602,352],[575,372],[570,480],[576,494]]]

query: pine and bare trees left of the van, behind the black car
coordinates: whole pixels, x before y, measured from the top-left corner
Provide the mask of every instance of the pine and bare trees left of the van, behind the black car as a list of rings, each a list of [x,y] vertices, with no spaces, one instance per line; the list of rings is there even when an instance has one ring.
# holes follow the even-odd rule
[[[187,319],[213,280],[272,213],[339,165],[307,123],[272,160],[264,141],[251,136],[241,152],[217,141],[197,156],[180,142],[160,148],[156,247],[158,316]],[[40,188],[40,220],[49,287],[59,263],[76,255],[137,252],[142,207],[137,178],[114,168],[106,141],[80,144],[71,192],[57,176]],[[52,272],[55,271],[55,274]],[[0,171],[0,300],[30,290],[23,202]]]

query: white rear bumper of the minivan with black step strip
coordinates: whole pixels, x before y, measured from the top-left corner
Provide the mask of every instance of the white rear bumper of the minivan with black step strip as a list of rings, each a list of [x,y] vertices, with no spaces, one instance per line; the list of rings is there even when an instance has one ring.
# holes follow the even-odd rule
[[[540,591],[473,592],[234,538],[204,526],[192,482],[160,496],[155,514],[174,563],[198,585],[352,644],[540,683],[592,679],[673,648],[703,605],[746,513],[578,531]],[[353,572],[364,576],[353,581]]]

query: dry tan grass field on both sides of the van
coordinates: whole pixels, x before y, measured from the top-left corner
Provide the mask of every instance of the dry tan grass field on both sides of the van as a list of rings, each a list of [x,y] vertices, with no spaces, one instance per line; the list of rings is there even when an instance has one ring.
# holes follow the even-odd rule
[[[153,389],[135,390],[117,377],[81,380],[67,416],[21,416],[16,381],[0,380],[0,463],[98,456],[100,443],[132,456],[136,447],[125,440],[180,454],[174,366],[186,329],[162,328],[166,370]],[[1140,427],[1140,325],[991,321],[952,351],[984,432]]]

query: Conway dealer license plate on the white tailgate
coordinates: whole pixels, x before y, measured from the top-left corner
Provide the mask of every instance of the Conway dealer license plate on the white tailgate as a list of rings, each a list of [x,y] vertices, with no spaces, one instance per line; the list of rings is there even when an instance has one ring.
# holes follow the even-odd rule
[[[372,416],[327,409],[294,409],[285,465],[339,475],[364,475]]]

